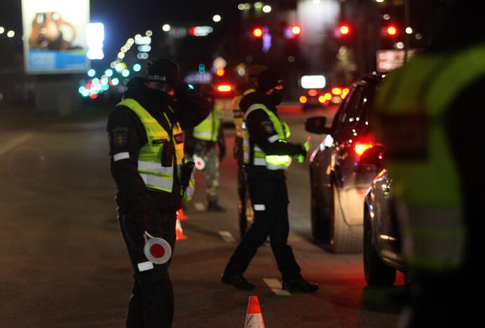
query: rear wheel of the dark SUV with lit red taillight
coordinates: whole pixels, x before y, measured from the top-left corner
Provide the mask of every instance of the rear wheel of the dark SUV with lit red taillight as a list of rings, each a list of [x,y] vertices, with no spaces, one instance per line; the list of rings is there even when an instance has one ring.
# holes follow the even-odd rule
[[[343,217],[339,194],[335,185],[333,186],[332,190],[333,213],[329,225],[329,249],[334,253],[362,252],[362,226],[347,224]]]

